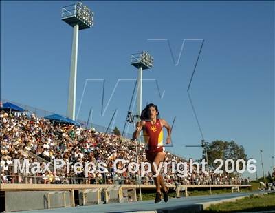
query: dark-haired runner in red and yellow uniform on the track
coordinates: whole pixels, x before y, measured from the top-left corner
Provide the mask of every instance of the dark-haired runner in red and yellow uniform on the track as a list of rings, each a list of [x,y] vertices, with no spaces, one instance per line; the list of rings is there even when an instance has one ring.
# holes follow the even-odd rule
[[[141,130],[143,130],[144,142],[146,145],[146,158],[149,163],[151,163],[152,172],[155,175],[156,171],[153,162],[155,162],[155,165],[157,165],[158,168],[159,163],[165,159],[162,128],[166,128],[168,133],[166,144],[171,143],[171,128],[164,119],[159,119],[159,110],[157,109],[157,105],[153,103],[146,105],[146,108],[142,110],[140,120],[140,122],[137,122],[135,132],[133,133],[133,140],[137,139]],[[168,187],[164,184],[162,175],[159,174],[157,177],[154,177],[154,181],[157,190],[155,203],[159,203],[162,200],[160,187],[164,190],[164,201],[167,202]]]

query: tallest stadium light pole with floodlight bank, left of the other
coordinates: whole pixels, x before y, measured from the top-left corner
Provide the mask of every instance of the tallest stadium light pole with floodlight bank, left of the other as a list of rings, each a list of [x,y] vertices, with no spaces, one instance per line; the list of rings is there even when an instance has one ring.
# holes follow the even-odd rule
[[[74,28],[72,43],[71,71],[69,76],[69,97],[67,102],[67,116],[75,119],[76,114],[76,76],[78,58],[78,31],[94,26],[94,12],[78,2],[62,8],[61,20]]]

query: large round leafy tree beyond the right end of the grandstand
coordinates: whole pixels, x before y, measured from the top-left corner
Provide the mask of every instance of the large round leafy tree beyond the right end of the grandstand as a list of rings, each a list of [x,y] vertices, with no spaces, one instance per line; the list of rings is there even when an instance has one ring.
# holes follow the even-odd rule
[[[208,162],[210,169],[216,169],[221,163],[214,164],[215,159],[222,159],[223,164],[219,170],[225,172],[225,161],[226,159],[232,159],[234,161],[234,172],[236,172],[236,160],[243,159],[246,163],[248,156],[245,154],[245,149],[242,145],[238,145],[235,141],[212,141],[207,147]],[[205,150],[203,149],[203,159],[206,159]],[[245,165],[244,165],[245,166]],[[231,163],[228,163],[228,170],[232,168]],[[242,170],[243,164],[239,163],[239,170]],[[234,176],[234,174],[230,174]]]

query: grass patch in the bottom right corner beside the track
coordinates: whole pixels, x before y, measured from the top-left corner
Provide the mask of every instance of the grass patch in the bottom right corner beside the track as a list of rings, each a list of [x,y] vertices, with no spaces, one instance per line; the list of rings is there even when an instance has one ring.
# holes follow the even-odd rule
[[[263,210],[274,210],[275,194],[262,194],[261,196],[250,196],[236,202],[226,202],[210,205],[204,213],[216,212],[253,212]]]

